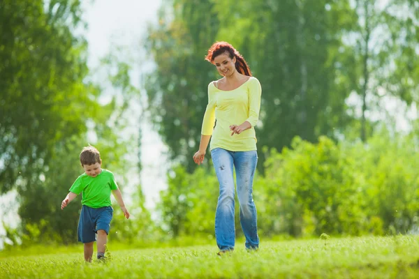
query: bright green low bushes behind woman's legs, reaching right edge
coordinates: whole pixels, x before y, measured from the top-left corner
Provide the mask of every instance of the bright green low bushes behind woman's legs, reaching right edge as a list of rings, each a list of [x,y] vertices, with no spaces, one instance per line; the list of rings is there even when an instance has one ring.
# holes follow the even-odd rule
[[[261,236],[406,234],[418,227],[418,136],[376,133],[367,144],[295,137],[269,152],[253,183]],[[177,167],[159,210],[173,236],[214,234],[213,171]],[[238,204],[236,208],[238,207]],[[236,234],[241,235],[236,216]]]

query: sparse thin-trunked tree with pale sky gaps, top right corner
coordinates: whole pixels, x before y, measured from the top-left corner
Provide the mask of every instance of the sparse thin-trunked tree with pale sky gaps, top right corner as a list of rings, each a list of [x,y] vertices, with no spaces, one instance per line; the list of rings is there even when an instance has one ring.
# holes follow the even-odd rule
[[[381,100],[394,97],[410,105],[415,98],[419,63],[411,57],[419,41],[419,23],[416,4],[409,0],[392,0],[385,6],[371,0],[355,3],[359,20],[353,34],[356,75],[351,87],[361,98],[360,137],[365,142],[367,114],[385,110]]]

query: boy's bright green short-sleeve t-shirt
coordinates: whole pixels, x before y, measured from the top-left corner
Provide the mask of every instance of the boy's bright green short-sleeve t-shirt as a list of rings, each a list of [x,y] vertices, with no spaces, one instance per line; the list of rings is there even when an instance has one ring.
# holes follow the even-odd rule
[[[70,192],[79,195],[82,193],[82,204],[98,209],[104,206],[111,206],[110,190],[117,190],[114,175],[108,169],[96,177],[88,176],[86,173],[78,176],[74,181]]]

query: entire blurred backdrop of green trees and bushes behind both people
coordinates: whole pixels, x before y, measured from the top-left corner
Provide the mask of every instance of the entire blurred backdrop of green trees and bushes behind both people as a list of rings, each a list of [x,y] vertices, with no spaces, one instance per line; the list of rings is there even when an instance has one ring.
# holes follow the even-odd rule
[[[133,218],[124,220],[115,208],[110,239],[214,237],[218,182],[212,169],[195,169],[191,156],[207,84],[217,78],[203,60],[215,40],[233,43],[263,86],[256,128],[258,146],[265,146],[258,151],[264,172],[256,175],[253,193],[261,236],[417,229],[418,135],[392,135],[366,118],[382,109],[382,96],[408,105],[418,100],[419,64],[412,59],[418,3],[387,4],[166,1],[159,24],[149,28],[146,47],[156,68],[145,83],[152,121],[179,164],[158,206],[165,234],[152,224],[138,186]],[[103,58],[116,93],[101,105],[103,83],[90,81],[87,43],[74,33],[82,27],[81,13],[78,0],[0,3],[0,194],[19,195],[22,226],[6,227],[13,243],[75,242],[80,197],[65,211],[59,204],[81,172],[78,153],[87,138],[122,189],[132,171],[119,172],[132,163],[124,155],[137,150],[119,132],[129,125],[130,100],[139,93],[130,80],[133,64],[122,49]],[[346,105],[353,92],[362,98],[361,121]]]

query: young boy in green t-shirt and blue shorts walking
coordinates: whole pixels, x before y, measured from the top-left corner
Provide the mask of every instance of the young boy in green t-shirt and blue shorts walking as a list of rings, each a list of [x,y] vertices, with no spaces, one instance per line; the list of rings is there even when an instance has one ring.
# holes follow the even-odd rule
[[[84,260],[91,262],[93,256],[93,243],[97,237],[98,259],[105,259],[105,245],[108,241],[110,220],[113,209],[110,202],[110,193],[114,195],[124,216],[128,219],[121,191],[118,189],[114,175],[107,169],[101,169],[102,160],[99,151],[93,146],[84,147],[80,153],[80,163],[84,174],[78,176],[70,193],[61,202],[64,209],[78,194],[82,193],[82,211],[78,224],[78,241],[84,243]]]

